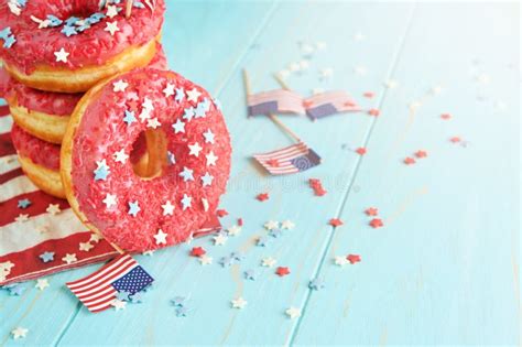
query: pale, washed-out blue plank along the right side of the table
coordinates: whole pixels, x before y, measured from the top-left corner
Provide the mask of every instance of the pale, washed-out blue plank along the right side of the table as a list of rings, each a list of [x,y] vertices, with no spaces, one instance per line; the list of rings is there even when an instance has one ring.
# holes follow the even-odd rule
[[[293,343],[520,343],[518,10],[418,6],[393,72],[400,87],[387,94],[340,213],[347,225],[320,267],[327,289],[311,294]],[[420,149],[428,158],[402,163]],[[368,226],[370,206],[383,228]],[[347,253],[362,261],[333,263]]]

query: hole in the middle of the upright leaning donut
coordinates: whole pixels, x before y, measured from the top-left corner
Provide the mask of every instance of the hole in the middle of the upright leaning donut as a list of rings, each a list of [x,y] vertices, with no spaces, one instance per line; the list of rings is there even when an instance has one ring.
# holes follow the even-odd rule
[[[168,160],[166,144],[166,133],[162,128],[140,132],[130,153],[134,174],[143,180],[161,176]]]

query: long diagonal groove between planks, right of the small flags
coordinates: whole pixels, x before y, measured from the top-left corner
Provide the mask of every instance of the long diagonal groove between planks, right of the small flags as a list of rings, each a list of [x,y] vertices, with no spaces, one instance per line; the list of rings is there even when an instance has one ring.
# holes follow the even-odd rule
[[[416,2],[413,3],[412,9],[410,10],[410,15],[407,18],[406,26],[404,29],[404,33],[403,33],[402,37],[399,40],[398,48],[395,51],[395,54],[393,55],[392,62],[391,62],[390,67],[388,69],[387,79],[390,79],[394,75],[395,68],[396,68],[396,66],[399,64],[399,61],[400,61],[400,57],[401,57],[401,53],[404,51],[404,45],[405,45],[406,37],[410,33],[410,30],[411,30],[411,26],[412,26],[412,23],[413,23],[413,18],[414,18],[415,10],[416,10]],[[378,101],[378,109],[382,109],[385,97],[388,95],[388,88],[383,87],[383,90],[384,91],[383,91],[382,96],[379,98],[379,101]],[[369,143],[370,138],[371,138],[371,133],[373,132],[373,128],[376,127],[376,123],[377,123],[377,119],[378,119],[378,117],[374,117],[374,119],[372,120],[372,122],[369,127],[368,133],[367,133],[367,135],[365,138],[365,141],[363,141],[365,148],[368,147],[368,143]],[[357,174],[359,172],[361,163],[362,163],[362,156],[360,155],[357,159],[356,167],[354,169],[351,178],[349,180],[348,185],[346,187],[345,196],[341,199],[340,205],[338,207],[338,210],[335,215],[336,218],[340,217],[340,215],[342,214],[342,212],[345,209],[345,206],[348,203],[348,197],[350,195],[351,187],[354,186],[354,183],[356,181],[356,177],[357,177]],[[331,246],[331,241],[334,240],[335,232],[336,232],[336,228],[331,227],[330,228],[330,234],[328,236],[328,239],[327,239],[325,248],[324,248],[323,256],[320,257],[320,260],[318,262],[316,271],[314,272],[314,274],[312,276],[313,279],[316,279],[319,275],[319,273],[322,272],[323,265],[325,264],[325,261],[326,261],[328,250],[330,249],[330,246]],[[306,293],[306,296],[305,296],[305,300],[304,300],[304,304],[302,305],[301,316],[298,317],[296,324],[294,325],[293,330],[290,334],[290,340],[286,341],[285,345],[290,345],[290,346],[294,345],[295,337],[298,335],[298,332],[300,332],[301,323],[303,322],[303,317],[306,314],[306,307],[309,304],[312,293],[313,293],[313,291],[311,289],[308,289],[308,291]]]

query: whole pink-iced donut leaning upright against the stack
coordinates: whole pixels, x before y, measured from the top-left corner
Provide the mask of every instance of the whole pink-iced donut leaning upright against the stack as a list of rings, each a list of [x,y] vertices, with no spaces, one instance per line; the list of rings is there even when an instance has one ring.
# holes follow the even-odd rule
[[[110,126],[107,126],[110,124]],[[127,162],[141,133],[155,138],[148,177]],[[135,69],[90,89],[61,152],[67,199],[79,219],[127,251],[186,240],[216,209],[230,173],[219,102],[173,72]]]

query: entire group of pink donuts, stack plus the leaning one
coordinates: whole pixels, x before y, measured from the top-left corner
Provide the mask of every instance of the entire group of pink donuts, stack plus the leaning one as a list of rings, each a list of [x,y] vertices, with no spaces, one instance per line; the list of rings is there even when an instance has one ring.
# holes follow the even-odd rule
[[[165,71],[164,11],[164,0],[0,0],[0,97],[23,171],[128,251],[189,238],[230,172],[219,104]]]

